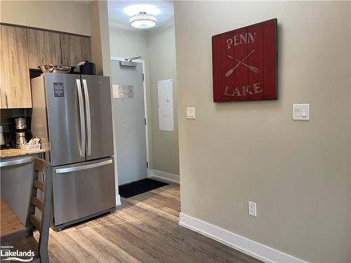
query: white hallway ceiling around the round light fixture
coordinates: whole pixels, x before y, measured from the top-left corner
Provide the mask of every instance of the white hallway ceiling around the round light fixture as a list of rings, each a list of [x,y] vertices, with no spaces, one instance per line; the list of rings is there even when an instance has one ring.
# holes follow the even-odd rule
[[[138,7],[135,8],[135,6]],[[133,6],[133,7],[131,7]],[[127,8],[125,10],[125,8]],[[110,27],[131,30],[152,30],[173,21],[173,1],[108,1]],[[147,10],[142,10],[147,9]],[[158,10],[157,10],[158,9]],[[127,11],[127,13],[125,12]],[[129,25],[131,15],[145,11],[157,18],[157,26],[152,29],[135,29]],[[135,13],[136,12],[136,13]],[[135,14],[134,14],[135,13]]]

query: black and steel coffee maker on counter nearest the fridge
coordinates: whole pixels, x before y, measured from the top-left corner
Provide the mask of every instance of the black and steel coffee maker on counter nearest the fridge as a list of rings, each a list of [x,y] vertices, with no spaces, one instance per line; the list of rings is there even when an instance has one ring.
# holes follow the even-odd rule
[[[12,137],[12,147],[20,148],[21,144],[26,144],[30,139],[32,139],[32,133],[30,133],[27,123],[30,123],[28,118],[18,117],[11,118],[11,137]]]

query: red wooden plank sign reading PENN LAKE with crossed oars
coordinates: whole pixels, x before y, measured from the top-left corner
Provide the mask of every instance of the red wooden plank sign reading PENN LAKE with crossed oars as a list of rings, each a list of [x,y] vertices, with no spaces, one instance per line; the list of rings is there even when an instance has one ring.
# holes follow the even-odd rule
[[[277,100],[277,18],[212,36],[213,101]]]

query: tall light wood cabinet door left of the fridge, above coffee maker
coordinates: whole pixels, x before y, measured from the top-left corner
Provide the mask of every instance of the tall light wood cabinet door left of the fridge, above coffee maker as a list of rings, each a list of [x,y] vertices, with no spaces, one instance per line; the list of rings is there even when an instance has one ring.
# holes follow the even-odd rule
[[[0,25],[0,34],[1,108],[31,108],[26,29]]]

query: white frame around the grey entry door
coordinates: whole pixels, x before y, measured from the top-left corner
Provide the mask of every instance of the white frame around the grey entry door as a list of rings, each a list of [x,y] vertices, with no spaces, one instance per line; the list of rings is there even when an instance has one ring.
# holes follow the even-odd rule
[[[125,58],[119,58],[119,57],[112,57],[111,56],[111,61],[126,61]],[[146,161],[148,163],[147,166],[147,178],[150,177],[151,173],[150,173],[150,158],[149,158],[149,118],[147,118],[147,97],[146,97],[146,73],[145,73],[145,60],[133,60],[133,62],[137,62],[137,63],[141,63],[143,66],[143,75],[144,75],[144,79],[143,79],[143,91],[144,91],[144,118],[146,119],[146,124],[145,124],[145,140],[146,140]],[[112,71],[111,71],[112,74]],[[112,83],[111,83],[112,85]],[[113,98],[112,98],[113,100]],[[113,102],[112,102],[113,103]],[[112,111],[113,111],[113,104],[112,104]],[[117,155],[117,153],[116,153]],[[116,165],[118,166],[117,163],[117,159],[116,159]],[[145,163],[146,165],[146,163]],[[115,173],[117,173],[117,179],[118,179],[118,172],[117,172],[117,168]],[[118,180],[116,182],[117,187],[118,187]]]

